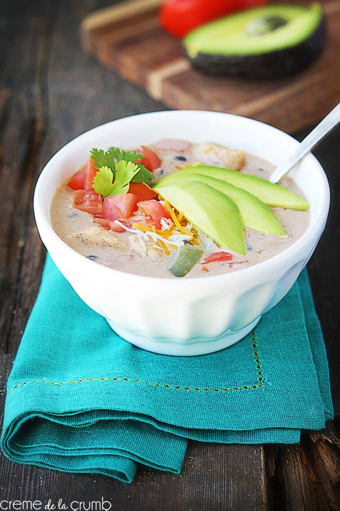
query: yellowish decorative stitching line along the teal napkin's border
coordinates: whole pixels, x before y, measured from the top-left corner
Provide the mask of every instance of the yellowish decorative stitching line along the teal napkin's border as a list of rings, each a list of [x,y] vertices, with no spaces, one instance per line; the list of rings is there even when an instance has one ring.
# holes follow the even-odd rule
[[[78,378],[76,380],[69,380],[69,381],[66,381],[66,382],[51,382],[49,380],[47,380],[47,378],[44,378],[43,380],[32,380],[32,381],[29,381],[29,382],[21,382],[21,383],[17,383],[16,385],[14,385],[14,387],[12,387],[10,390],[8,390],[8,394],[10,394],[11,392],[13,392],[13,390],[17,389],[18,387],[21,387],[22,385],[28,385],[30,383],[49,383],[50,385],[59,385],[59,386],[62,386],[62,385],[72,385],[73,383],[83,383],[83,382],[93,382],[93,381],[125,381],[125,382],[135,382],[135,383],[145,383],[146,385],[150,385],[150,386],[153,386],[153,387],[164,387],[164,388],[170,388],[170,389],[175,389],[175,390],[204,390],[205,392],[229,392],[230,390],[234,390],[234,391],[237,391],[237,390],[241,390],[241,389],[245,389],[245,390],[248,390],[248,389],[256,389],[256,388],[264,388],[266,387],[266,379],[265,379],[265,374],[264,374],[264,370],[263,370],[263,367],[261,365],[261,360],[260,360],[260,353],[259,353],[259,350],[258,350],[258,343],[257,343],[257,336],[256,336],[256,331],[253,330],[252,333],[251,333],[251,347],[253,349],[253,356],[254,356],[254,360],[255,360],[255,364],[256,364],[256,380],[257,380],[257,383],[256,384],[253,384],[253,385],[240,385],[240,386],[236,386],[236,387],[230,387],[230,388],[208,388],[208,387],[204,387],[204,388],[200,388],[200,387],[188,387],[188,386],[185,386],[185,387],[181,387],[180,385],[170,385],[168,383],[152,383],[152,382],[148,382],[146,380],[140,380],[139,378],[117,378],[117,377],[99,377],[99,378]]]

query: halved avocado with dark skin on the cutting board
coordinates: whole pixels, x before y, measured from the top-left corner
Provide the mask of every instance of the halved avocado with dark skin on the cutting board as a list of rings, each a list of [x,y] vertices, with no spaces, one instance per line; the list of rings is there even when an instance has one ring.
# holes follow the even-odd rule
[[[183,41],[193,67],[208,74],[279,78],[307,67],[326,38],[321,5],[268,5],[209,22]]]

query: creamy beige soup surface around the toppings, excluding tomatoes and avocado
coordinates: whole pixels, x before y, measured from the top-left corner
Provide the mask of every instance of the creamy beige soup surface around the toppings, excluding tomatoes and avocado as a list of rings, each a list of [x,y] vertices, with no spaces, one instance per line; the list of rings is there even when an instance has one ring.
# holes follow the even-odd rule
[[[161,160],[161,166],[153,172],[154,181],[197,164],[225,167],[264,179],[268,179],[274,170],[274,166],[264,159],[211,142],[191,144],[186,141],[162,140],[150,148]],[[84,257],[116,270],[138,275],[176,278],[169,271],[169,267],[176,258],[177,247],[193,244],[192,239],[173,229],[174,234],[170,239],[174,245],[172,247],[168,245],[164,250],[164,244],[158,241],[159,238],[152,238],[152,235],[133,227],[118,233],[94,224],[93,215],[73,207],[72,190],[67,187],[69,179],[57,189],[50,209],[52,226],[67,245]],[[280,184],[303,197],[301,190],[291,178],[284,178]],[[183,218],[182,225],[186,229],[193,230],[195,246],[203,251],[200,261],[185,278],[228,273],[257,264],[292,245],[306,231],[309,223],[308,211],[295,211],[282,207],[271,209],[279,218],[286,236],[274,236],[245,228],[246,255],[234,252],[228,247],[218,246],[211,238]],[[134,222],[138,223],[141,212],[136,211],[133,218]],[[163,222],[164,231],[169,230],[170,227],[174,227],[171,221]],[[230,259],[201,263],[209,255],[220,251],[227,251],[231,256]]]

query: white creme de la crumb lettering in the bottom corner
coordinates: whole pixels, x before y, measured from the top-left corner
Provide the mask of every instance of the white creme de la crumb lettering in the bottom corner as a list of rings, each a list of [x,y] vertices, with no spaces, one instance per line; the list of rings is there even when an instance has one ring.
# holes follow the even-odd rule
[[[72,500],[70,503],[59,499],[53,502],[41,500],[0,500],[0,511],[110,511],[111,502],[104,500]]]

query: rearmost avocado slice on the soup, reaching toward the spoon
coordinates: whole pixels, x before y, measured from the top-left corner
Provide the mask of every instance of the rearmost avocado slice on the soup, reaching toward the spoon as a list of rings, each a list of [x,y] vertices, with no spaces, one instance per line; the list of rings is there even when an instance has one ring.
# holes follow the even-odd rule
[[[304,199],[291,192],[287,188],[279,184],[273,184],[267,179],[261,177],[243,174],[236,170],[224,169],[222,167],[214,167],[210,165],[198,165],[197,167],[190,167],[178,172],[174,172],[169,176],[163,177],[154,184],[154,188],[158,188],[168,182],[174,183],[175,180],[181,180],[186,174],[203,174],[215,179],[221,179],[227,183],[233,184],[235,187],[242,188],[257,197],[269,206],[280,206],[289,208],[290,210],[308,210],[309,204]]]

